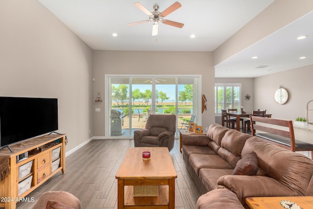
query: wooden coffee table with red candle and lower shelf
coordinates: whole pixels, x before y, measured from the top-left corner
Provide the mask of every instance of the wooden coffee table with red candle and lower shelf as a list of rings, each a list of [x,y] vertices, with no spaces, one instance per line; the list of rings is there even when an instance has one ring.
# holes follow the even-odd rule
[[[149,161],[142,160],[143,151],[151,152]],[[167,147],[130,148],[115,178],[118,209],[175,208],[177,173]],[[158,196],[134,197],[133,186],[158,186]]]

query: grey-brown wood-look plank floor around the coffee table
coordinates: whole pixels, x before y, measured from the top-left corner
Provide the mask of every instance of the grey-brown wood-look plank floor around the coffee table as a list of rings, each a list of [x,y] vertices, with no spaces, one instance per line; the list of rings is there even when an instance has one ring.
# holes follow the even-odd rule
[[[27,197],[35,202],[18,203],[18,209],[30,209],[46,191],[63,190],[75,195],[82,209],[117,209],[117,180],[115,174],[133,139],[92,140],[66,158],[66,173],[58,172]],[[170,152],[177,179],[175,184],[175,208],[196,209],[201,196],[193,183],[179,152],[179,139]]]

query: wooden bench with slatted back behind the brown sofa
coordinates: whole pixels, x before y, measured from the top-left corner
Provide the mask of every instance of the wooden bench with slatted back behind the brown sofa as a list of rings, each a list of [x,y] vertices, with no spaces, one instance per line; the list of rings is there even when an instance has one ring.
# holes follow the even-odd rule
[[[280,120],[269,117],[250,116],[250,121],[253,136],[267,139],[270,143],[291,150],[292,152],[311,151],[313,158],[313,144],[294,139],[292,120]],[[289,130],[286,131],[282,129],[268,127],[260,123],[255,124],[255,122],[288,127]],[[261,133],[255,133],[256,130],[261,131]]]

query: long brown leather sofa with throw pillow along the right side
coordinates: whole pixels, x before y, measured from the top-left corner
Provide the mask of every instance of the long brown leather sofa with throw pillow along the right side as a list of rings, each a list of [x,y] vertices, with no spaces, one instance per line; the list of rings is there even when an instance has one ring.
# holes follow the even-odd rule
[[[246,197],[313,196],[313,161],[302,154],[216,123],[206,135],[182,135],[182,141],[187,169],[204,194],[198,209],[242,207],[236,201],[248,208]]]

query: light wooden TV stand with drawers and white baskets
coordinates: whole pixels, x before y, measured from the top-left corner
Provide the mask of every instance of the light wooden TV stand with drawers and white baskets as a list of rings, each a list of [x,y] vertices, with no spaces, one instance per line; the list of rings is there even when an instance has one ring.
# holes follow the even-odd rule
[[[10,145],[13,153],[7,148],[0,150],[1,156],[8,156],[11,168],[10,173],[0,182],[0,208],[15,209],[19,201],[33,201],[31,197],[28,200],[24,197],[58,171],[65,173],[65,142],[65,134],[51,134]],[[30,152],[37,147],[42,151],[35,154]],[[17,162],[17,156],[26,152],[28,158]],[[32,165],[29,165],[31,162]],[[25,165],[26,163],[28,164]],[[24,166],[21,167],[22,165]],[[28,183],[24,183],[27,181]]]

